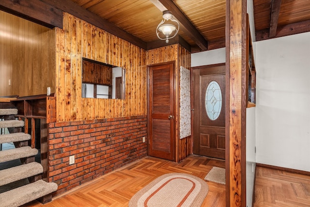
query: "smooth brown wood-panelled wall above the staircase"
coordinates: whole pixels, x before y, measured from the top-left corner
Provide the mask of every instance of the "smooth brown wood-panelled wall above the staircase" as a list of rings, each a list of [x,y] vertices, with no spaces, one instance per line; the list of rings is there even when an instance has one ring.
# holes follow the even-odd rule
[[[55,30],[0,11],[0,33],[0,96],[54,93]]]

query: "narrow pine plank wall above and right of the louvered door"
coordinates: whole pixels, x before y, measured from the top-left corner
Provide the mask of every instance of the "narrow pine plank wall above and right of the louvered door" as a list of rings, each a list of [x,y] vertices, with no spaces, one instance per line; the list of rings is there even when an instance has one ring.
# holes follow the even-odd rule
[[[180,109],[180,66],[190,69],[191,56],[190,52],[179,44],[170,45],[162,48],[150,49],[146,52],[146,64],[158,64],[175,61],[175,127],[176,127],[176,146],[175,146],[175,161],[179,162],[192,153],[191,137],[179,139],[179,109]]]

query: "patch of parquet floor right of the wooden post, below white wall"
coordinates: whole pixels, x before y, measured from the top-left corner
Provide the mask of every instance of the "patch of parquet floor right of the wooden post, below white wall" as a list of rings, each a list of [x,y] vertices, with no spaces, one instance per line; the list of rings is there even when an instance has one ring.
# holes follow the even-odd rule
[[[256,168],[254,207],[310,207],[310,176]]]

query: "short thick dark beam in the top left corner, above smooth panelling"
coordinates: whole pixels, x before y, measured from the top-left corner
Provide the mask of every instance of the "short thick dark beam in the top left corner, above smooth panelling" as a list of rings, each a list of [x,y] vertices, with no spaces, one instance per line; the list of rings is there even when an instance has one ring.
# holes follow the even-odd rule
[[[62,11],[39,0],[0,0],[0,10],[48,28],[62,28]]]

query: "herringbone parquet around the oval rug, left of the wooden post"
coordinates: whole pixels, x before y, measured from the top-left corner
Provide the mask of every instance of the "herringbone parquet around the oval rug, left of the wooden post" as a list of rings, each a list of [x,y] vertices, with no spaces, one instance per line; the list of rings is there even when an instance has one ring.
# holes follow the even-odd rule
[[[34,201],[24,207],[126,207],[136,192],[160,175],[186,173],[203,179],[213,166],[225,168],[225,162],[194,155],[180,163],[147,157],[68,191],[45,205]],[[207,183],[209,192],[202,206],[225,207],[225,185]]]

